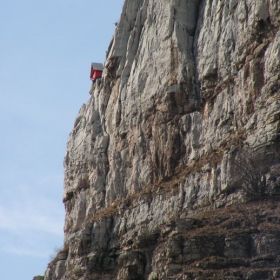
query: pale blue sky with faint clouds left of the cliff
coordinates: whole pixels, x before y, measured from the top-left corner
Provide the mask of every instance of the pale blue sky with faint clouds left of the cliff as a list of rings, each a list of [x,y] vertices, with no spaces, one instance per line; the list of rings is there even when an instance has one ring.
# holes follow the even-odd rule
[[[63,158],[123,0],[0,0],[0,279],[63,244]]]

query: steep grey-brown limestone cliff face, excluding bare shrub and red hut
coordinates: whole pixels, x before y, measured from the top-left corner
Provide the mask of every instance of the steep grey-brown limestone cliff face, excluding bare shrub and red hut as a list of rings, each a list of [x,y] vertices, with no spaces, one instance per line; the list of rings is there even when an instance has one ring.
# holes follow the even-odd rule
[[[125,1],[69,137],[45,280],[278,276],[278,201],[229,189],[244,147],[279,150],[279,26],[279,0]]]

